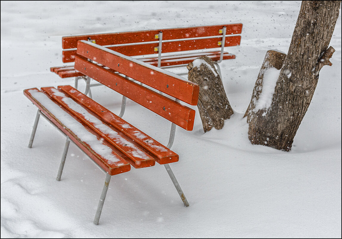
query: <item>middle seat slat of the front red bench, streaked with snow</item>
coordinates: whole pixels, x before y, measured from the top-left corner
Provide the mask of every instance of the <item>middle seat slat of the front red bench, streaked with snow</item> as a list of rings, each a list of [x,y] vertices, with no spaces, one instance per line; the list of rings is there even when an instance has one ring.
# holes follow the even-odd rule
[[[134,168],[144,168],[155,165],[155,159],[137,147],[134,142],[125,138],[113,128],[104,124],[100,119],[93,116],[89,111],[77,104],[73,99],[53,87],[42,87],[41,91],[48,94],[52,99],[73,113],[84,124],[94,130],[102,138],[114,145],[119,151],[127,156],[124,158]]]

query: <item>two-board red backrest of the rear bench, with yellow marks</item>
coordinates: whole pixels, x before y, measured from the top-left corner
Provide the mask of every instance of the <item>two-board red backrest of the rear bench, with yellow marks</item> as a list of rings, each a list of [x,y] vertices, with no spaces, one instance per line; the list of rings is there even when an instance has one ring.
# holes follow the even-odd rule
[[[71,49],[77,47],[79,40],[90,40],[94,43],[106,46],[111,50],[120,52],[126,56],[141,56],[158,53],[159,37],[162,33],[163,53],[210,49],[239,46],[242,24],[225,24],[213,26],[198,26],[173,29],[159,29],[150,31],[121,32],[107,34],[92,34],[81,36],[62,37],[62,48]],[[225,36],[223,37],[223,33]],[[76,49],[63,51],[63,62],[75,61]]]

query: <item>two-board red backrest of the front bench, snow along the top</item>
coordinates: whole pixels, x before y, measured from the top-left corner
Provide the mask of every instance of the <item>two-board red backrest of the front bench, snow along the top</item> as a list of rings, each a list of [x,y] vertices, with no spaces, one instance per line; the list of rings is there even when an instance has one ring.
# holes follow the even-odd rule
[[[195,110],[180,104],[177,100],[197,105],[199,94],[197,84],[186,81],[177,74],[86,40],[78,41],[75,69],[181,128],[193,129]],[[174,97],[176,100],[140,85],[128,77]]]

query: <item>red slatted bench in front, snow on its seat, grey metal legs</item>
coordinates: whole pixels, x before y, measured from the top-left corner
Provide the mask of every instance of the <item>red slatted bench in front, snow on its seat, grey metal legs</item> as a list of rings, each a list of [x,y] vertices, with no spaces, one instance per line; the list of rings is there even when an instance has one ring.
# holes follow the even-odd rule
[[[122,104],[119,117],[74,87],[64,85],[24,90],[25,96],[38,107],[29,147],[32,147],[39,117],[43,116],[67,138],[57,173],[58,181],[70,141],[105,172],[106,179],[94,224],[98,224],[100,219],[111,176],[130,171],[131,166],[144,168],[154,166],[155,162],[163,164],[184,205],[188,206],[169,166],[169,163],[179,160],[170,148],[176,126],[189,131],[193,129],[195,110],[180,104],[180,101],[197,105],[199,86],[176,74],[86,40],[78,41],[75,69],[122,94],[123,101],[126,102],[127,97],[172,122],[168,145],[164,146],[120,118],[125,104]]]

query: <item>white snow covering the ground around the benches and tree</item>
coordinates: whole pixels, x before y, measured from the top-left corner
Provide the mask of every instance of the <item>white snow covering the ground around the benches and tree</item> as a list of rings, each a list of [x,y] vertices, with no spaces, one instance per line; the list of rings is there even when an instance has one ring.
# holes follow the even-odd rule
[[[242,119],[266,51],[287,53],[300,4],[1,1],[1,238],[341,238],[341,14],[333,65],[320,71],[291,152],[251,145]],[[49,70],[63,65],[62,36],[239,22],[241,46],[226,49],[237,57],[221,63],[234,115],[203,133],[196,112],[193,131],[176,131],[170,166],[190,206],[163,166],[132,168],[111,178],[94,225],[105,175],[70,144],[56,181],[65,138],[41,118],[27,147],[37,107],[23,89],[74,84]],[[121,96],[104,86],[92,95],[120,112]],[[123,118],[167,144],[162,117],[128,100]]]

